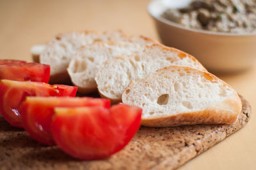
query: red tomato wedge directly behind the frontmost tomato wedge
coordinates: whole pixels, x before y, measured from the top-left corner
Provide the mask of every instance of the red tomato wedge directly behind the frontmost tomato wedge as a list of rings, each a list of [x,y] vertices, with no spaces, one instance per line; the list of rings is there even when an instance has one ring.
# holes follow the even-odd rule
[[[53,145],[51,135],[54,107],[102,106],[110,107],[110,101],[104,98],[90,97],[27,97],[22,106],[22,123],[25,130],[36,141]]]

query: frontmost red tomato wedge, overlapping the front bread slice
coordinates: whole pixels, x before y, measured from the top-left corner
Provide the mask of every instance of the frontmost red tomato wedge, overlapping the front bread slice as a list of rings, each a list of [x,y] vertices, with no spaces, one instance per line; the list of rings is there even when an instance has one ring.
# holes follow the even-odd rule
[[[73,157],[106,158],[124,148],[140,127],[142,109],[124,104],[54,109],[52,135]]]

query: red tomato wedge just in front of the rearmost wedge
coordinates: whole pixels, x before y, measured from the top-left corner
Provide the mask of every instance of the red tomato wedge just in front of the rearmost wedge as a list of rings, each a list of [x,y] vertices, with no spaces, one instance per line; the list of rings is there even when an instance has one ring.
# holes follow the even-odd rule
[[[15,127],[22,127],[20,107],[27,96],[61,97],[76,95],[77,87],[50,85],[44,82],[0,81],[0,111],[6,121]]]

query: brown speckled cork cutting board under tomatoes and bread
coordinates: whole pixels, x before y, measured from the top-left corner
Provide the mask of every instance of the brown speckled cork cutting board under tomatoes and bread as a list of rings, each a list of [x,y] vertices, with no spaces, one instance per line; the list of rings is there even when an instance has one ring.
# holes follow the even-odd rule
[[[251,107],[243,97],[235,125],[141,127],[124,150],[102,160],[77,160],[58,146],[37,143],[27,132],[0,118],[0,169],[176,169],[250,120]]]

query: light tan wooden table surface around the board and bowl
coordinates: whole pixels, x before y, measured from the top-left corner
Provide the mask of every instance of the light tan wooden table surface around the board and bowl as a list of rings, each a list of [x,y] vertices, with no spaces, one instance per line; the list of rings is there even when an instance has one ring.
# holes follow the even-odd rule
[[[31,61],[32,45],[72,30],[123,29],[132,35],[158,39],[147,3],[148,0],[0,0],[0,59]],[[243,95],[254,111],[256,66],[236,75],[218,76]],[[255,115],[246,127],[180,169],[256,169]]]

